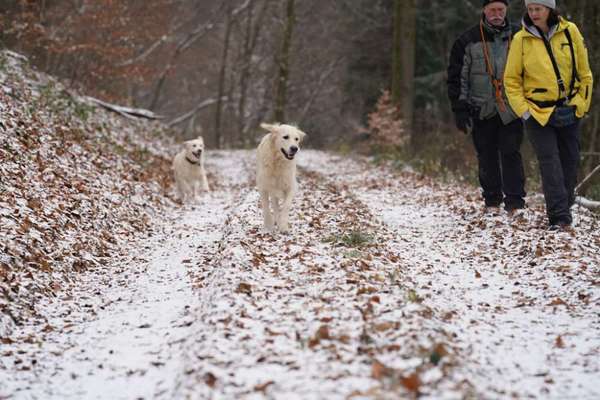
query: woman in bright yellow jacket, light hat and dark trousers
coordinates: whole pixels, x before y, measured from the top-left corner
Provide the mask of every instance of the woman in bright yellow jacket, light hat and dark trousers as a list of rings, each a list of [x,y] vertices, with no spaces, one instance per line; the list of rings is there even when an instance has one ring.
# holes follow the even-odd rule
[[[579,164],[579,120],[590,108],[592,73],[583,37],[555,0],[525,0],[504,72],[508,101],[525,120],[542,175],[551,228],[572,223]],[[554,60],[553,60],[554,59]]]

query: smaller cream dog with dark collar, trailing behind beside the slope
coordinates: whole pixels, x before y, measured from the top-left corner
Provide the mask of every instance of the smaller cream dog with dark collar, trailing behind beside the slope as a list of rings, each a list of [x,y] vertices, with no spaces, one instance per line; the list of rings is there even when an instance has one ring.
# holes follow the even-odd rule
[[[204,139],[198,136],[194,140],[184,142],[185,149],[173,159],[173,170],[177,192],[183,203],[195,201],[200,195],[200,187],[206,192],[208,181],[204,171]]]

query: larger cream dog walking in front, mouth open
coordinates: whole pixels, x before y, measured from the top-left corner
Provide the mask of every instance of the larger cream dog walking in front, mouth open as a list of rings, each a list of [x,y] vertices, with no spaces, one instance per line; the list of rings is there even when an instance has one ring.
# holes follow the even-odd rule
[[[288,232],[290,207],[297,188],[294,156],[306,134],[291,125],[260,126],[269,131],[258,145],[256,163],[256,186],[265,228],[272,231],[277,225],[281,232]]]

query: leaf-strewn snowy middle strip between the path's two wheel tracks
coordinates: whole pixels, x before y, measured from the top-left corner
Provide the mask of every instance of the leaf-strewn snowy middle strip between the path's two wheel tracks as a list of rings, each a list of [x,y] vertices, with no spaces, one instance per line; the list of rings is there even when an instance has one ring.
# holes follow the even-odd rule
[[[389,232],[343,187],[302,182],[290,235],[263,232],[249,191],[219,258],[199,260],[193,371],[178,398],[397,398],[418,390],[415,371],[424,393],[457,398],[466,388],[448,378],[451,349],[429,363],[446,338],[396,278]],[[383,368],[389,354],[394,368]]]

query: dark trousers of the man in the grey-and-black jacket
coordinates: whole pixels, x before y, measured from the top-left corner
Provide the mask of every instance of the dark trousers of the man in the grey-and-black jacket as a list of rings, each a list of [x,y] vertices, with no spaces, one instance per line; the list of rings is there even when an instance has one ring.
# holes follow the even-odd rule
[[[475,120],[473,143],[479,161],[479,183],[486,206],[513,210],[525,206],[525,173],[521,158],[523,122],[504,125],[500,116]]]

